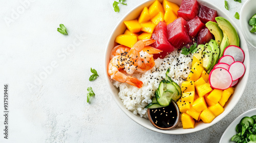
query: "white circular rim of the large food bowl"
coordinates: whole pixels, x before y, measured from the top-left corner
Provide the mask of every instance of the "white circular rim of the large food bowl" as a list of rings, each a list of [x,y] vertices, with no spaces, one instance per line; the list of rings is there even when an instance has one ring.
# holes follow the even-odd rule
[[[142,5],[145,5],[145,4],[148,3],[148,2],[152,2],[152,3],[153,3],[154,1],[155,1],[155,0],[150,0],[150,1],[142,2],[141,4],[139,4],[138,6],[136,6],[135,8],[133,8],[132,10],[130,10],[127,14],[125,14],[125,15],[123,16],[123,18],[117,23],[116,27],[114,28],[113,32],[111,33],[111,36],[110,36],[110,38],[109,38],[109,40],[108,40],[108,43],[107,43],[106,49],[105,49],[105,55],[104,55],[103,65],[104,65],[104,71],[105,71],[105,72],[104,72],[104,75],[105,75],[106,81],[109,81],[109,80],[110,80],[109,75],[108,75],[108,65],[105,65],[106,60],[109,60],[109,55],[106,55],[106,54],[108,53],[108,46],[109,46],[109,44],[110,44],[111,42],[113,42],[113,41],[111,41],[111,39],[112,39],[112,37],[113,37],[113,35],[114,35],[116,29],[118,28],[119,25],[121,25],[121,23],[124,21],[124,19],[125,19],[128,15],[130,15],[134,10],[136,10],[136,9],[139,8],[139,7],[141,7]],[[161,1],[161,0],[159,0],[159,1]],[[214,121],[212,121],[211,123],[205,124],[204,127],[201,127],[201,128],[196,128],[196,127],[195,127],[194,129],[182,129],[181,132],[175,132],[176,129],[173,129],[173,130],[160,130],[160,129],[157,129],[156,127],[154,127],[153,125],[152,125],[152,127],[151,127],[151,126],[148,127],[146,124],[137,121],[136,118],[135,118],[135,116],[134,116],[134,114],[133,114],[131,111],[127,110],[127,109],[123,106],[123,104],[121,104],[121,103],[119,102],[119,101],[120,101],[120,98],[119,98],[119,97],[116,98],[117,95],[114,93],[113,90],[111,90],[111,88],[112,88],[111,85],[107,83],[107,84],[108,84],[108,87],[109,87],[109,90],[111,91],[112,97],[113,97],[114,101],[116,102],[116,104],[119,106],[119,108],[120,108],[127,116],[129,116],[133,121],[135,121],[135,122],[138,123],[139,125],[141,125],[141,126],[147,128],[147,129],[150,129],[150,130],[152,130],[152,131],[159,132],[159,133],[164,133],[164,134],[187,134],[187,133],[193,133],[193,132],[197,132],[197,131],[201,131],[201,130],[203,130],[203,129],[206,129],[206,128],[212,126],[212,125],[215,125],[215,124],[218,123],[220,120],[222,120],[222,119],[234,108],[234,106],[237,105],[237,103],[239,102],[240,98],[242,97],[243,91],[245,90],[246,83],[247,83],[248,76],[249,76],[249,66],[250,66],[250,62],[249,62],[248,47],[247,47],[247,44],[246,44],[246,41],[245,41],[245,38],[244,38],[243,34],[241,33],[241,31],[240,31],[240,29],[238,28],[238,26],[236,25],[236,23],[235,23],[227,14],[225,14],[225,12],[222,11],[220,8],[218,8],[218,7],[215,6],[214,4],[211,4],[210,2],[206,2],[206,1],[204,1],[204,0],[197,0],[197,1],[200,3],[200,5],[205,5],[205,4],[206,4],[206,5],[211,5],[211,6],[213,6],[214,9],[217,10],[217,13],[218,13],[218,11],[221,11],[221,12],[223,13],[223,15],[221,15],[221,16],[224,17],[224,18],[226,18],[226,19],[228,19],[229,22],[232,24],[232,26],[237,30],[237,32],[238,32],[238,34],[239,34],[239,37],[240,37],[240,46],[242,46],[242,45],[241,45],[241,41],[243,41],[243,43],[244,43],[244,44],[243,44],[243,47],[242,47],[242,49],[244,50],[244,53],[245,53],[245,60],[244,60],[244,63],[247,62],[247,63],[245,64],[245,66],[246,66],[246,71],[245,71],[244,76],[242,77],[242,78],[243,78],[243,81],[244,81],[244,83],[245,83],[245,85],[242,86],[242,90],[238,91],[238,92],[240,93],[240,96],[239,96],[239,97],[237,98],[237,100],[232,104],[233,106],[231,106],[231,108],[229,108],[229,110],[225,110],[225,111],[224,111],[224,112],[225,112],[224,115],[222,115],[222,116],[221,116],[221,115],[217,116]],[[222,114],[223,114],[223,113],[222,113]],[[137,116],[138,116],[138,115],[137,115]],[[148,121],[148,122],[150,122],[150,121]]]

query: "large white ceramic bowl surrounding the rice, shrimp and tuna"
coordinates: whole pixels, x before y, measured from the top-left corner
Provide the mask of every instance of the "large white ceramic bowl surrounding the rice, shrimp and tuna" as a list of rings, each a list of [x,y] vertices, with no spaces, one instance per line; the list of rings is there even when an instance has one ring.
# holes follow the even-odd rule
[[[238,35],[240,37],[240,46],[241,48],[244,50],[245,53],[245,60],[244,60],[244,65],[246,67],[246,72],[245,75],[243,76],[243,78],[240,79],[234,94],[230,97],[230,99],[228,100],[228,102],[225,105],[225,111],[220,114],[219,116],[217,116],[211,123],[209,124],[204,124],[202,122],[196,123],[195,128],[194,129],[183,129],[183,128],[175,128],[172,130],[160,130],[157,129],[156,127],[154,127],[149,120],[145,119],[145,118],[141,118],[139,115],[135,115],[133,114],[131,111],[127,110],[122,101],[119,99],[118,97],[118,89],[114,87],[114,85],[112,84],[109,76],[108,76],[108,64],[109,64],[109,59],[110,59],[110,52],[113,49],[113,47],[115,45],[117,45],[117,43],[115,43],[115,38],[116,36],[123,34],[126,27],[123,23],[123,21],[125,20],[132,20],[132,19],[136,19],[142,9],[146,6],[150,6],[155,0],[151,0],[151,1],[147,1],[144,2],[142,4],[140,4],[139,6],[135,7],[133,10],[131,10],[129,13],[127,13],[118,23],[117,26],[115,27],[113,33],[110,36],[109,42],[106,45],[106,50],[105,50],[105,59],[104,59],[104,70],[105,70],[105,78],[106,78],[106,83],[108,84],[108,87],[112,93],[113,99],[115,100],[115,102],[117,103],[117,105],[121,108],[121,110],[127,115],[129,116],[132,120],[134,120],[136,123],[138,123],[139,125],[156,131],[156,132],[160,132],[160,133],[166,133],[166,134],[186,134],[186,133],[193,133],[193,132],[197,132],[200,130],[203,130],[205,128],[208,128],[214,124],[216,124],[217,122],[219,122],[220,120],[222,120],[222,118],[224,118],[232,109],[234,106],[236,106],[236,104],[238,103],[239,99],[241,98],[243,91],[245,89],[247,80],[248,80],[248,75],[249,75],[249,53],[248,53],[248,48],[246,45],[246,41],[241,33],[241,31],[239,30],[239,28],[237,27],[237,25],[231,20],[231,18],[229,18],[221,9],[219,9],[218,7],[210,4],[209,2],[205,2],[202,0],[198,0],[198,2],[202,5],[205,5],[209,8],[215,9],[218,12],[219,16],[222,16],[224,18],[226,18],[227,20],[230,21],[230,23],[233,25],[233,27],[237,30]],[[162,1],[160,1],[162,2]],[[181,0],[170,0],[170,2],[174,2],[178,5],[181,4]]]

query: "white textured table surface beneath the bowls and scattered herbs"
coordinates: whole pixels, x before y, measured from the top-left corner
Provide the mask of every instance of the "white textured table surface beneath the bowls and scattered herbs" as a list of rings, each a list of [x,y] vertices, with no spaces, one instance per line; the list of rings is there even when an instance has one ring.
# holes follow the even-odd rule
[[[113,0],[114,1],[114,0]],[[136,5],[127,0],[120,12],[113,1],[4,1],[0,9],[0,112],[4,84],[9,85],[9,139],[0,115],[0,142],[219,142],[227,126],[255,108],[256,50],[250,51],[250,74],[240,102],[219,123],[205,130],[168,135],[148,130],[116,105],[103,76],[106,43],[116,23]],[[233,17],[242,3],[211,3]],[[56,29],[63,23],[68,36]],[[90,68],[99,77],[89,82]],[[46,71],[48,73],[46,73]],[[41,77],[41,79],[39,79]],[[87,87],[96,94],[87,103]]]

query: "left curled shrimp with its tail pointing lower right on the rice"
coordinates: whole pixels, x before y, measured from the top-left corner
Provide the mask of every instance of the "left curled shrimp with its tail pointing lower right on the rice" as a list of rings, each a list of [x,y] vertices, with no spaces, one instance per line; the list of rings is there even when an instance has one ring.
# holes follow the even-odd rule
[[[125,56],[115,56],[110,60],[108,67],[108,73],[110,75],[110,78],[119,82],[126,82],[128,84],[141,88],[143,85],[142,81],[132,76],[126,76],[120,71],[124,68],[124,65],[126,64],[125,62],[127,62],[127,57]]]

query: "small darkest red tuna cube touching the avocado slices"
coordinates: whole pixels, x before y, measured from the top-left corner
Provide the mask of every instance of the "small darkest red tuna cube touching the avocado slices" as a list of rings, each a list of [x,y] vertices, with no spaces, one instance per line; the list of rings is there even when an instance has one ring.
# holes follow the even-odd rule
[[[213,39],[214,36],[210,33],[208,28],[204,28],[199,31],[198,36],[197,36],[197,44],[206,44],[210,41],[210,39]]]

